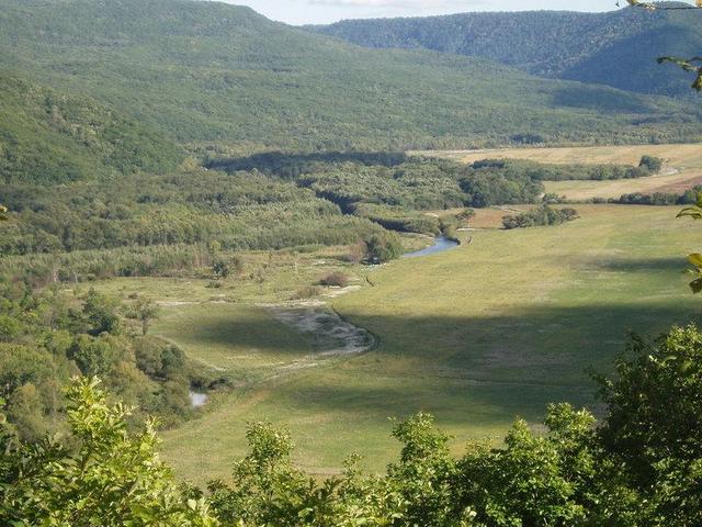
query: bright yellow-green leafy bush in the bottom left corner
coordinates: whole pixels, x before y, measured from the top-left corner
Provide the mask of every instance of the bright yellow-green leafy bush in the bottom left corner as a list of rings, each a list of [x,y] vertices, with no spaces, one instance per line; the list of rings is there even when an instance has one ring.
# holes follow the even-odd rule
[[[129,434],[129,411],[109,406],[95,380],[76,382],[67,396],[71,442],[16,447],[3,437],[2,525],[216,525],[205,501],[183,494],[159,461],[152,424]]]

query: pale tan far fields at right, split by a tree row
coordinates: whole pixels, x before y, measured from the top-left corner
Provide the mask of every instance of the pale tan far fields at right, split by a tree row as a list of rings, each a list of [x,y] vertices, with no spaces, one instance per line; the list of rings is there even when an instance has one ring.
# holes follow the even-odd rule
[[[417,152],[461,162],[486,158],[530,159],[552,164],[637,165],[643,155],[666,159],[660,175],[614,181],[547,181],[546,192],[570,200],[619,198],[624,193],[681,192],[702,184],[702,145],[637,145],[564,148],[501,148],[491,150]]]

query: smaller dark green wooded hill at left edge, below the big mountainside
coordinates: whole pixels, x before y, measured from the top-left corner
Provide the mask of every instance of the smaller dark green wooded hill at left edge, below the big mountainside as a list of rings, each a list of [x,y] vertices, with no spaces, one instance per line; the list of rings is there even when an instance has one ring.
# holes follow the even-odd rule
[[[181,157],[176,144],[94,100],[0,74],[0,181],[160,172]]]

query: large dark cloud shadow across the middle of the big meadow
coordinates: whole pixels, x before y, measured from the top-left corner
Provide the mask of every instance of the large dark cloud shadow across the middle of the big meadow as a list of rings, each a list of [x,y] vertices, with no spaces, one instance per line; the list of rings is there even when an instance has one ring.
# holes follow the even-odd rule
[[[702,322],[700,310],[682,304],[537,307],[486,317],[354,315],[352,323],[380,335],[380,347],[340,370],[307,372],[286,396],[310,413],[387,418],[423,410],[467,425],[536,419],[551,402],[593,405],[590,372],[611,371],[629,332],[655,338],[673,324]]]

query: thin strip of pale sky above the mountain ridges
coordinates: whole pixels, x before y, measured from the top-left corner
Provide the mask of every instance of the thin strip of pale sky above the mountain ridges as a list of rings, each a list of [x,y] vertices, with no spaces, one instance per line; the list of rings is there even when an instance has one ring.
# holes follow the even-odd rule
[[[466,11],[612,11],[616,0],[224,0],[249,5],[288,24],[326,24],[342,19],[429,16]],[[626,2],[622,0],[622,4]]]

